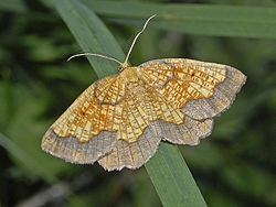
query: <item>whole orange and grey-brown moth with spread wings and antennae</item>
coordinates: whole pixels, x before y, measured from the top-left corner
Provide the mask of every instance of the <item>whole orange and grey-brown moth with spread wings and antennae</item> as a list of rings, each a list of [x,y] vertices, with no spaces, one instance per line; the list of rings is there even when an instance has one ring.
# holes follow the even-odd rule
[[[50,127],[42,149],[77,164],[98,162],[107,171],[138,168],[161,140],[197,145],[211,134],[213,118],[233,103],[246,81],[240,70],[222,64],[163,58],[130,66],[92,84]],[[71,59],[70,58],[70,59]]]

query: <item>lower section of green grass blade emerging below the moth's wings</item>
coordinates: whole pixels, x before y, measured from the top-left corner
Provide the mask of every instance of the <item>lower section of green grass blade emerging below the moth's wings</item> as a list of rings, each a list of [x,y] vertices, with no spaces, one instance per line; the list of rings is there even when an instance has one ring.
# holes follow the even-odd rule
[[[162,143],[146,168],[163,206],[206,206],[177,146]]]

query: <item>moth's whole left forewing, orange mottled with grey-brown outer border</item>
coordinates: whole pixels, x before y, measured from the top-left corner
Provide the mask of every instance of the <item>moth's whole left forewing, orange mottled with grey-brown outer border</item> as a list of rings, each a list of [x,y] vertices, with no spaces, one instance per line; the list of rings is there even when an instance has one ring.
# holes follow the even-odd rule
[[[102,92],[102,85],[97,81],[91,85],[51,126],[43,137],[42,149],[76,163],[93,163],[112,151],[117,139],[121,106],[102,102],[118,101],[125,96],[116,89],[116,86],[121,87],[116,84],[116,78],[107,76],[98,80],[107,86],[110,83],[112,92]]]

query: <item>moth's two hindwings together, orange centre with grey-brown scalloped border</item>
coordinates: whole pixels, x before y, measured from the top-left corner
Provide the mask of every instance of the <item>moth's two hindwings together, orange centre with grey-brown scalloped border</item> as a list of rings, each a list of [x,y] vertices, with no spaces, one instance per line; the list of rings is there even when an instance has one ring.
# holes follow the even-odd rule
[[[108,170],[137,168],[157,151],[161,139],[178,144],[199,143],[212,131],[213,121],[197,121],[176,109],[155,88],[138,84],[124,100],[119,140],[113,152],[100,159],[99,164]],[[130,92],[131,91],[131,92]],[[121,135],[121,137],[120,137]]]

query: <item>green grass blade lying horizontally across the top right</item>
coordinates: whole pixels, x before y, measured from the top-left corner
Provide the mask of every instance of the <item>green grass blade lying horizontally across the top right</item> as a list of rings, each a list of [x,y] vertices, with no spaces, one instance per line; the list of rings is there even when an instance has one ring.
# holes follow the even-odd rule
[[[276,39],[276,9],[187,3],[144,3],[82,0],[96,13],[123,24],[151,26],[188,34]]]

